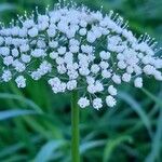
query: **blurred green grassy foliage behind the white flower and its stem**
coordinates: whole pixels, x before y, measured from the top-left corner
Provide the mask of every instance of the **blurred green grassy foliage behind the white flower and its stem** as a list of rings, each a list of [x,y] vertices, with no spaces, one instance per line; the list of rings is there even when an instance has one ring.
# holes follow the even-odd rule
[[[161,0],[76,0],[106,13],[114,10],[140,35],[162,45]],[[36,6],[44,13],[55,0],[0,0],[0,21],[9,24]],[[160,54],[160,53],[159,53]],[[0,162],[70,162],[70,96],[54,95],[42,80],[25,90],[0,85]],[[145,81],[145,89],[122,85],[118,106],[81,110],[83,162],[162,161],[162,83]],[[31,102],[32,100],[32,102]]]

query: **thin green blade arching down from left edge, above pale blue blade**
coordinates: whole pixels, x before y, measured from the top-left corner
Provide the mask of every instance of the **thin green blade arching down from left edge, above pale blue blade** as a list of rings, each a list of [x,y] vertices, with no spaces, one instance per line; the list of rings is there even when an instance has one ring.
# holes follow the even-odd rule
[[[14,95],[14,94],[10,94],[10,93],[0,93],[0,98],[2,99],[16,99],[16,100],[19,100],[19,102],[23,102],[25,104],[27,104],[28,106],[30,106],[32,109],[35,109],[36,111],[42,113],[42,109],[36,105],[33,102],[31,102],[30,99],[27,99],[23,96],[19,96],[19,95]]]

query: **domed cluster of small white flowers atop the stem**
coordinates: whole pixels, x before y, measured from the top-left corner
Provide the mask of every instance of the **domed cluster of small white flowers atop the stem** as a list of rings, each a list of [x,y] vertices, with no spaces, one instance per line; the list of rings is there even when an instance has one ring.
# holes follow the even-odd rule
[[[112,11],[103,15],[85,6],[57,5],[1,27],[1,81],[14,79],[25,87],[28,76],[44,77],[54,93],[80,91],[81,108],[113,107],[122,82],[141,87],[145,75],[162,80],[154,46],[147,35],[135,38]]]

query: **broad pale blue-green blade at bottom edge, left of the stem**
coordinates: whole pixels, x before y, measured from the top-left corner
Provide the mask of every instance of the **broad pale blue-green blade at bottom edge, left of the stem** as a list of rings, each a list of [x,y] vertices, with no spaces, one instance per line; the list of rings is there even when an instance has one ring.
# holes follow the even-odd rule
[[[54,151],[65,145],[65,140],[51,140],[46,143],[38,152],[35,158],[35,162],[48,162],[52,156],[54,156]]]

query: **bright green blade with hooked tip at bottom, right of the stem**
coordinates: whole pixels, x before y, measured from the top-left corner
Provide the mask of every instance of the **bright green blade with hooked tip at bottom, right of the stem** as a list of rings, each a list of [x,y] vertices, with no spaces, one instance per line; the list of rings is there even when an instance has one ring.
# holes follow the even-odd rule
[[[120,136],[114,139],[109,139],[105,149],[104,149],[104,157],[103,162],[108,162],[112,156],[112,151],[123,141],[132,141],[131,136]]]

